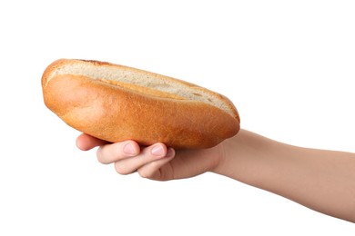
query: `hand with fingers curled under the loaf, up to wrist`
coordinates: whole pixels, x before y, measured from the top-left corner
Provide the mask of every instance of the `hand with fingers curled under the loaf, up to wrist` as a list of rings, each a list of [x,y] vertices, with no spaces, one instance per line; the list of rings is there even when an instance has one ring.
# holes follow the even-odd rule
[[[96,156],[104,164],[114,163],[120,174],[138,172],[141,177],[168,181],[193,177],[203,172],[212,172],[222,158],[222,144],[204,150],[178,150],[168,148],[164,143],[140,147],[127,140],[121,143],[107,143],[85,133],[76,140],[76,146],[83,151],[99,146]]]

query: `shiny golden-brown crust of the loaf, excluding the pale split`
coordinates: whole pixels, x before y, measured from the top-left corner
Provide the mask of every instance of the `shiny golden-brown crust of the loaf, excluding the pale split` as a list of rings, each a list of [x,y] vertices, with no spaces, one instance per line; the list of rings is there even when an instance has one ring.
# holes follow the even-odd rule
[[[235,108],[236,115],[232,116],[207,103],[144,94],[106,83],[106,78],[54,75],[67,63],[76,60],[59,60],[47,67],[42,77],[44,101],[51,111],[80,132],[112,143],[135,140],[142,145],[161,142],[177,149],[197,149],[215,146],[239,131]]]

